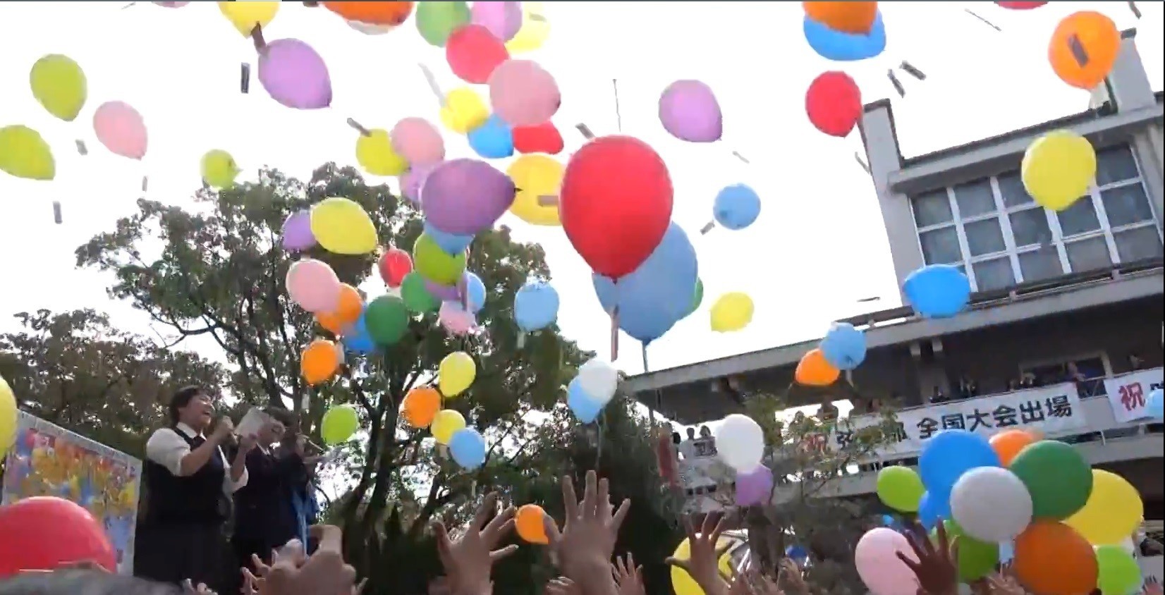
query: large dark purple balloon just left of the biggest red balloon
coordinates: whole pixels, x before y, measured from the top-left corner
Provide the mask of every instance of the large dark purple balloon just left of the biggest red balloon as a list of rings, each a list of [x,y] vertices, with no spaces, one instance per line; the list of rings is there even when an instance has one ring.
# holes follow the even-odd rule
[[[474,235],[494,225],[514,203],[514,182],[476,160],[446,161],[425,178],[421,207],[445,233]]]

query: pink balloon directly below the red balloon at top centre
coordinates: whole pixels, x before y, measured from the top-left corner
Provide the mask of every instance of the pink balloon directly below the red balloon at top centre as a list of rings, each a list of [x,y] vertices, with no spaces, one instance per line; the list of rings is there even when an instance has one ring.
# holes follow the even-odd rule
[[[558,112],[563,95],[555,77],[536,62],[509,59],[489,76],[489,104],[510,126],[538,126]]]

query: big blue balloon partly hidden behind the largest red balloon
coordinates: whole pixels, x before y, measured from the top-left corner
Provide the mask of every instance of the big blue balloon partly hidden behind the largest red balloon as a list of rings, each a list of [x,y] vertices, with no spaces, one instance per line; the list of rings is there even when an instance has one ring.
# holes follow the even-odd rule
[[[592,274],[605,312],[619,307],[619,327],[643,345],[663,337],[687,314],[699,276],[696,249],[687,234],[671,224],[651,256],[614,281]]]

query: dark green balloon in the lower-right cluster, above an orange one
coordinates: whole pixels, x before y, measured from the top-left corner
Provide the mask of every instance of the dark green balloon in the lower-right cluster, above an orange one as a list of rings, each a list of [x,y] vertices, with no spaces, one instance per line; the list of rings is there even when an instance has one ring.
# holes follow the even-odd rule
[[[1088,462],[1075,447],[1059,440],[1025,446],[1008,468],[1031,494],[1032,518],[1068,518],[1083,508],[1092,494]]]

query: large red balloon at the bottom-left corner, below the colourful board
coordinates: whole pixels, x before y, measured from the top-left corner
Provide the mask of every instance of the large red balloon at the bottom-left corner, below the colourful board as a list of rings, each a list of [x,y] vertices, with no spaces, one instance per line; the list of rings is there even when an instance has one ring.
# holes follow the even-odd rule
[[[105,529],[68,500],[36,496],[0,507],[0,579],[85,560],[118,571]]]

